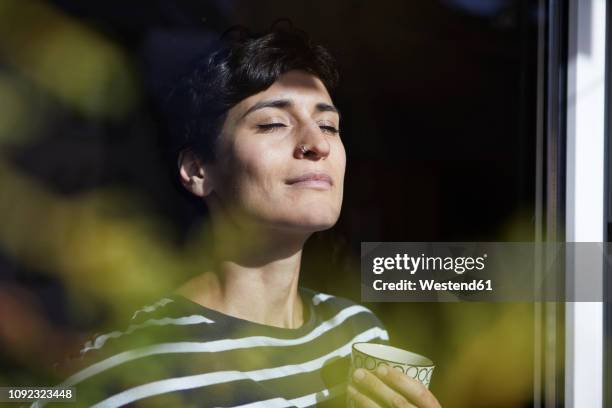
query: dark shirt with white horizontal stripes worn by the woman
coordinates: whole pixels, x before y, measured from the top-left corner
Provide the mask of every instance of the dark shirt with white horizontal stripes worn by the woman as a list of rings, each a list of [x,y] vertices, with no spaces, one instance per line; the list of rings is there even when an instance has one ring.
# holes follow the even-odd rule
[[[93,363],[62,385],[78,406],[345,406],[351,345],[387,343],[364,306],[300,288],[304,324],[262,325],[181,296],[137,311],[132,324],[88,342]],[[35,404],[34,406],[41,406]]]

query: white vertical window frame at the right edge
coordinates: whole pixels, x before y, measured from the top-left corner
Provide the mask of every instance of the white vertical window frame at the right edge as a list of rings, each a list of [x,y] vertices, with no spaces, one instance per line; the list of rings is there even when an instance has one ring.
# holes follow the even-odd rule
[[[566,241],[603,243],[606,1],[570,0],[569,6]],[[603,258],[589,271],[602,291],[603,271]],[[580,271],[567,279],[567,288],[579,292]],[[603,407],[603,303],[566,302],[565,327],[565,406]]]

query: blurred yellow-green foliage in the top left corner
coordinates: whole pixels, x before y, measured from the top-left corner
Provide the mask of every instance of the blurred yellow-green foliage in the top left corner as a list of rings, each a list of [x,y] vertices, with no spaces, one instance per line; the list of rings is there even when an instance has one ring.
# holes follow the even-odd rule
[[[137,101],[139,82],[121,48],[42,1],[0,2],[0,55],[92,119],[125,117]]]

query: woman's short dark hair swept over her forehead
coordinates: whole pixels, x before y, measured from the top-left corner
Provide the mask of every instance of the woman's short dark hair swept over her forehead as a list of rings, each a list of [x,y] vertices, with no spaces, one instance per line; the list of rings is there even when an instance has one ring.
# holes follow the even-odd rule
[[[164,104],[174,153],[191,148],[204,161],[213,160],[227,111],[287,71],[311,73],[330,93],[338,83],[331,54],[292,25],[276,24],[264,34],[234,27],[215,48],[194,61]]]

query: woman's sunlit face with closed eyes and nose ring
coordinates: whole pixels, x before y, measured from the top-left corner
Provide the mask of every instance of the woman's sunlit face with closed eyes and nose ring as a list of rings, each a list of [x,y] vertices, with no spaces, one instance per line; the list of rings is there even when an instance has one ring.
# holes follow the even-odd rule
[[[303,71],[232,107],[209,172],[223,207],[268,227],[333,226],[346,164],[339,122],[323,83]]]

